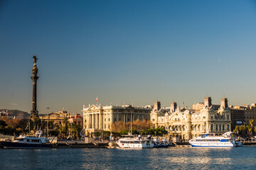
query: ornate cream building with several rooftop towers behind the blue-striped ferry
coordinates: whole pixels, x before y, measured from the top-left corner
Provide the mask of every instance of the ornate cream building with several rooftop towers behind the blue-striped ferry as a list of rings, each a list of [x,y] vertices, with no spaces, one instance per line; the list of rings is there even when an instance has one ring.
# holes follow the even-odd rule
[[[215,132],[221,135],[231,130],[231,111],[227,98],[221,98],[221,104],[212,105],[211,98],[205,103],[193,105],[191,109],[177,107],[175,102],[170,108],[161,108],[159,101],[154,103],[151,111],[151,123],[168,130],[170,137],[190,140],[202,132]]]

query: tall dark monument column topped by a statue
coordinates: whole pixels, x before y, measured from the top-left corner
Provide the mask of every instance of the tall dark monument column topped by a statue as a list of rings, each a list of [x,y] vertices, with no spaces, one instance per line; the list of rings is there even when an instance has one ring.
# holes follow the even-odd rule
[[[34,120],[35,118],[38,118],[38,111],[36,108],[36,82],[38,80],[38,68],[36,67],[36,61],[38,59],[36,58],[36,55],[33,56],[33,69],[32,69],[32,74],[33,76],[31,79],[33,80],[33,96],[32,96],[32,110],[31,110],[31,119]]]

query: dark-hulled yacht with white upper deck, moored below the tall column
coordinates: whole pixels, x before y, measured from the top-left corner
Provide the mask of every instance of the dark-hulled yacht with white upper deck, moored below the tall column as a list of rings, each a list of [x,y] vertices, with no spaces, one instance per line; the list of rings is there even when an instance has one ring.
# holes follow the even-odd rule
[[[52,145],[50,144],[49,140],[47,138],[42,137],[42,136],[43,136],[43,131],[38,130],[38,132],[36,132],[36,135],[34,137],[33,136],[20,135],[13,142],[2,141],[0,143],[5,149],[9,149],[9,148],[14,148],[14,149],[51,148]]]

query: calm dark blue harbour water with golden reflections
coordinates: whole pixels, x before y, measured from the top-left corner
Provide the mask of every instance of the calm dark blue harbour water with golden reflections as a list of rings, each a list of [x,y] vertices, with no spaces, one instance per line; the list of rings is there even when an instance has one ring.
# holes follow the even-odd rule
[[[0,149],[0,169],[256,169],[256,147]]]

